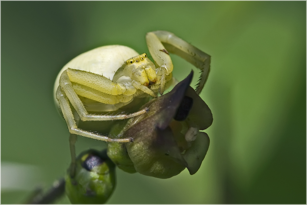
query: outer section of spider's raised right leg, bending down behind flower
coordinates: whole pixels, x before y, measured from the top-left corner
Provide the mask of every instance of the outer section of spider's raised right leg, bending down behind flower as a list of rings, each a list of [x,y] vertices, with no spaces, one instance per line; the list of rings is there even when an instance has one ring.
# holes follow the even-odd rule
[[[157,36],[168,52],[184,58],[196,68],[200,69],[201,74],[195,89],[196,93],[200,94],[208,78],[211,56],[168,31],[158,30],[151,33]]]

